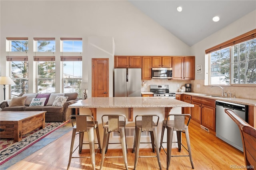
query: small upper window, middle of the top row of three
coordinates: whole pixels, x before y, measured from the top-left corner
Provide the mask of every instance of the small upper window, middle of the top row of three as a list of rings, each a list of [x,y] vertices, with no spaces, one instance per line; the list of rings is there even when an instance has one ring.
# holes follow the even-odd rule
[[[34,52],[55,52],[55,38],[34,38]]]

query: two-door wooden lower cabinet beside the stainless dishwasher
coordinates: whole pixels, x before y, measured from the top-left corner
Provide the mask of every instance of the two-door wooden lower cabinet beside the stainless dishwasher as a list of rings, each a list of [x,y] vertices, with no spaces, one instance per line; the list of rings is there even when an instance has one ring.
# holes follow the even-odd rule
[[[216,132],[215,100],[192,96],[191,119]]]

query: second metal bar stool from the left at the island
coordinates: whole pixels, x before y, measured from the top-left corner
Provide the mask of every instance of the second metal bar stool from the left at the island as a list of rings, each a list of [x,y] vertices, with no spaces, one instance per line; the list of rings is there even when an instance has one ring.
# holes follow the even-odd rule
[[[104,123],[104,117],[108,117],[108,121],[106,123]],[[126,136],[125,136],[126,117],[123,115],[110,115],[110,114],[107,115],[106,114],[106,115],[103,115],[101,117],[101,119],[102,119],[102,125],[104,128],[104,134],[103,134],[100,170],[102,169],[105,158],[122,158],[122,157],[124,158],[124,165],[126,167],[126,170],[128,170],[127,154],[126,154],[127,147],[126,147]],[[121,119],[124,119],[124,120],[121,120]],[[120,133],[123,156],[105,156],[105,153],[108,149],[108,144],[117,144],[117,143],[109,143],[108,142],[109,134],[111,132],[119,132]]]

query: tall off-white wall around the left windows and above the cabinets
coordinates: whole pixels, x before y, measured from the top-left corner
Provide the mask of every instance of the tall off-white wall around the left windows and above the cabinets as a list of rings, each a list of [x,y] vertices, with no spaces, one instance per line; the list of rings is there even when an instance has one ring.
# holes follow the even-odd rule
[[[159,24],[140,12],[128,1],[0,1],[0,63],[2,76],[9,76],[6,64],[6,37],[82,37],[83,68],[88,68],[88,39],[91,36],[112,37],[115,55],[190,55],[190,47],[170,34]],[[103,38],[104,39],[104,38]],[[59,44],[56,43],[56,44]],[[113,44],[111,44],[113,45]],[[28,60],[32,61],[32,46],[29,46]],[[59,47],[56,46],[56,50]],[[60,52],[55,53],[56,58]],[[56,59],[56,61],[60,61]],[[89,65],[88,65],[89,64]],[[89,67],[88,67],[89,66]],[[110,66],[111,68],[112,66]],[[29,63],[29,80],[34,64]],[[56,70],[61,64],[56,64]],[[91,70],[84,70],[83,80],[90,81]],[[60,74],[60,71],[56,72]],[[112,72],[110,72],[112,74]],[[61,75],[56,75],[56,85]],[[32,86],[32,84],[29,84]],[[2,88],[2,87],[1,87]],[[111,90],[112,87],[110,87]],[[34,91],[34,88],[29,87]],[[7,93],[9,89],[7,88]],[[2,92],[2,90],[0,91]],[[32,92],[32,91],[30,91]],[[60,92],[60,89],[56,89]],[[3,95],[1,95],[3,100]],[[6,95],[8,98],[9,95]]]

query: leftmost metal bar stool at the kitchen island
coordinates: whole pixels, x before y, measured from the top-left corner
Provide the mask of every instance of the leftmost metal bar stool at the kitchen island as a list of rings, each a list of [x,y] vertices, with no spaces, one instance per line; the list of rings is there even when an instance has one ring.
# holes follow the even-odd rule
[[[92,119],[92,121],[87,121],[88,117],[90,117]],[[71,158],[91,158],[92,168],[95,170],[95,154],[97,152],[95,153],[94,144],[97,144],[97,143],[94,143],[94,129],[96,129],[96,134],[97,134],[97,138],[98,138],[97,151],[100,150],[100,152],[101,152],[98,122],[94,121],[94,117],[90,116],[90,115],[71,115],[70,122],[72,124],[73,131],[72,131],[72,139],[71,139],[70,154],[69,154],[67,169],[69,169],[69,167],[70,167]],[[84,132],[88,133],[89,143],[83,143]],[[82,145],[89,144],[90,145],[90,156],[84,156],[84,157],[73,157],[72,156],[72,154],[75,152],[75,150],[73,151],[73,147],[74,147],[74,140],[75,140],[76,134],[79,134],[79,145],[75,148],[75,150],[79,147],[78,152],[81,153]]]

